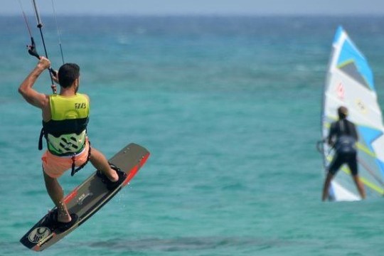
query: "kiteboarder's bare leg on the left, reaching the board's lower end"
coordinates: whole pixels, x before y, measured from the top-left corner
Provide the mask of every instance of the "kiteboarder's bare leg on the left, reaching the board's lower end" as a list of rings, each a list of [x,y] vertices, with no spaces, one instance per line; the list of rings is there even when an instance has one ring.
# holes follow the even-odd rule
[[[48,191],[48,195],[52,199],[55,206],[58,208],[58,222],[69,223],[72,218],[70,218],[70,214],[68,213],[68,208],[65,206],[63,201],[64,192],[63,188],[61,188],[58,183],[57,178],[51,178],[43,171],[44,181],[46,181],[46,188]]]

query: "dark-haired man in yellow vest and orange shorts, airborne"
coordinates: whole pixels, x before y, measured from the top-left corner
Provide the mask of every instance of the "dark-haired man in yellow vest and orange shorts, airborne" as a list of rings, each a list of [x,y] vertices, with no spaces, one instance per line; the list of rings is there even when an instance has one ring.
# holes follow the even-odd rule
[[[75,223],[77,216],[69,214],[63,201],[63,188],[58,178],[72,169],[72,175],[81,169],[89,160],[104,176],[108,188],[113,189],[124,181],[124,172],[110,166],[105,156],[97,149],[90,147],[87,137],[89,120],[89,97],[78,93],[80,85],[80,68],[74,63],[66,63],[55,72],[53,80],[60,84],[60,93],[46,95],[33,89],[33,85],[44,70],[50,68],[50,60],[43,56],[36,67],[18,87],[18,92],[34,107],[42,110],[43,129],[39,139],[46,138],[48,150],[42,156],[43,176],[46,189],[57,207],[55,220],[63,228]],[[77,168],[76,168],[77,167]]]

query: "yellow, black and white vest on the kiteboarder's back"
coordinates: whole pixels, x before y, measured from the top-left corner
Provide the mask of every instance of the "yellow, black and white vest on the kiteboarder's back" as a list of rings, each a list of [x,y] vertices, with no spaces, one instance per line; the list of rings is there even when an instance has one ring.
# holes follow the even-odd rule
[[[80,153],[85,147],[90,114],[87,97],[80,93],[71,97],[50,95],[49,102],[51,119],[43,121],[41,139],[46,137],[48,150],[57,156]],[[42,147],[39,142],[39,149]]]

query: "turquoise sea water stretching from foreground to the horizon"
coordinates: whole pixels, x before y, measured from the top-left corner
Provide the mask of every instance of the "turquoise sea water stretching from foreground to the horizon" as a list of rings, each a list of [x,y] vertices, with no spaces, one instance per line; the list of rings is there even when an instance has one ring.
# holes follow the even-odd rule
[[[61,65],[52,17],[48,55]],[[43,53],[34,28],[38,51]],[[82,68],[92,145],[151,151],[131,185],[41,255],[382,255],[383,201],[321,203],[321,93],[338,25],[384,106],[383,17],[58,17]],[[22,16],[0,17],[0,255],[53,207],[41,113],[17,87],[36,64]],[[31,24],[32,25],[32,24]],[[43,74],[36,84],[50,93]],[[92,173],[60,178],[68,193]]]

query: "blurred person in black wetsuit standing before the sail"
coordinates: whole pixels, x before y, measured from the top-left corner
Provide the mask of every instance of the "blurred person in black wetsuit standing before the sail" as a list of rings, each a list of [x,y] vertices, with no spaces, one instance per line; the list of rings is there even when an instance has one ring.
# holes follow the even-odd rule
[[[358,176],[358,164],[357,164],[357,151],[356,142],[358,141],[358,134],[356,132],[355,124],[348,121],[348,109],[346,107],[338,107],[338,121],[331,124],[329,129],[329,136],[327,142],[330,146],[333,146],[336,154],[334,159],[328,168],[328,174],[324,181],[323,196],[322,200],[325,201],[329,197],[329,185],[332,178],[334,178],[338,169],[343,165],[347,164],[351,170],[353,181],[356,184],[358,193],[362,199],[366,198],[366,192],[364,186]]]

